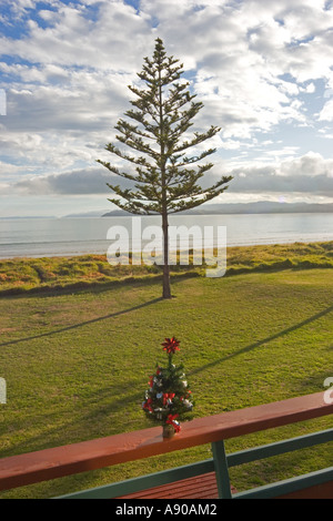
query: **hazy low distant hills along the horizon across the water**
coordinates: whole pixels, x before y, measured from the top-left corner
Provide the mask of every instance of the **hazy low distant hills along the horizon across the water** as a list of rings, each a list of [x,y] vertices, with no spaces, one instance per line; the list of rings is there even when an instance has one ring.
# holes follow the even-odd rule
[[[229,204],[206,204],[193,210],[180,212],[180,215],[218,215],[218,214],[292,214],[292,213],[332,213],[333,204],[310,204],[310,203],[274,203],[261,201],[258,203],[229,203]],[[123,210],[113,210],[102,215],[102,217],[131,216]]]

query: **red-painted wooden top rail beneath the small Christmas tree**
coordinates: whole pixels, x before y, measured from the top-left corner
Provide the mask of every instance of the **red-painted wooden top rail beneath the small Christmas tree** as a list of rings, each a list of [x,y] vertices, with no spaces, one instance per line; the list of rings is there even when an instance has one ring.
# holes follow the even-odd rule
[[[0,490],[87,472],[93,469],[101,469],[205,443],[212,443],[213,452],[215,452],[213,469],[218,471],[216,462],[222,461],[223,463],[223,458],[225,459],[223,440],[331,413],[333,413],[333,403],[325,403],[324,394],[319,392],[211,417],[198,418],[183,423],[181,432],[170,440],[162,438],[161,427],[153,427],[135,432],[125,432],[3,458],[0,460]],[[321,442],[332,441],[333,430],[326,431],[322,438]],[[293,449],[299,448],[297,441],[294,441],[294,445]],[[302,443],[299,445],[302,447]],[[261,450],[264,451],[263,448]],[[284,450],[279,449],[276,453],[281,453],[281,451]],[[271,454],[268,453],[268,456]],[[230,458],[232,463],[232,454]],[[249,456],[246,458],[249,460]],[[240,462],[244,461],[240,460]],[[202,464],[205,467],[204,462]],[[211,464],[206,464],[208,470],[212,470]],[[222,474],[224,471],[225,467],[224,470],[222,469]],[[329,478],[331,471],[332,469],[329,469]],[[221,474],[219,473],[219,476]],[[312,483],[312,481],[309,482],[310,484]],[[226,483],[224,481],[224,488],[225,486],[228,489],[228,480]],[[220,492],[221,488],[223,489],[223,483],[219,486]]]

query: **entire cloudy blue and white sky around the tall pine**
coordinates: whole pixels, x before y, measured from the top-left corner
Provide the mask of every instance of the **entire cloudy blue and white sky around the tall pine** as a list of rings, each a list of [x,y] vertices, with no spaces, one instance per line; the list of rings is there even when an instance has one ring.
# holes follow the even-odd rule
[[[221,127],[213,203],[333,202],[332,0],[0,0],[0,217],[115,208],[97,160],[157,38]]]

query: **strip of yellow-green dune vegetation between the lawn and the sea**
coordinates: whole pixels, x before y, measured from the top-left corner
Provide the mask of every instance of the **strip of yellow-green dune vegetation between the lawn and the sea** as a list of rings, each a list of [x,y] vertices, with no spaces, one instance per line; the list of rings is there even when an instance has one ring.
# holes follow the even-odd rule
[[[214,252],[216,255],[216,252]],[[226,276],[251,272],[333,267],[333,242],[228,248]],[[173,278],[204,276],[205,266],[171,266]],[[111,266],[105,255],[0,260],[0,296],[82,289],[161,279],[162,266]]]

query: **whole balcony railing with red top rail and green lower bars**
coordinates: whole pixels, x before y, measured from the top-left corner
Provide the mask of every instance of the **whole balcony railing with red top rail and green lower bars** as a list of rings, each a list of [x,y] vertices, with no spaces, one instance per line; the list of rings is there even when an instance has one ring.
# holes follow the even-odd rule
[[[333,429],[225,453],[224,440],[273,429],[333,413],[333,403],[326,403],[324,394],[307,395],[273,403],[265,403],[221,415],[198,418],[182,425],[172,439],[162,438],[162,429],[153,427],[107,438],[44,449],[0,460],[0,490],[32,484],[93,469],[134,461],[142,458],[180,451],[211,443],[213,458],[162,472],[124,480],[94,489],[78,491],[61,498],[110,499],[129,497],[160,498],[163,487],[178,482],[178,490],[190,478],[200,477],[202,486],[198,499],[242,498],[324,498],[333,499],[333,467],[271,483],[248,491],[236,492],[230,483],[229,469],[242,463],[270,458],[306,447],[333,441]],[[327,446],[329,461],[333,463],[332,446]],[[213,484],[204,486],[204,477],[213,473]],[[211,482],[211,481],[210,481]],[[236,487],[236,483],[233,483]],[[205,490],[204,490],[205,489]],[[216,496],[214,490],[216,489]],[[171,490],[171,489],[169,489]],[[184,489],[183,494],[186,494]],[[143,496],[140,496],[140,491]],[[149,491],[149,492],[147,492]],[[169,492],[169,498],[172,498]],[[133,496],[137,494],[137,496]],[[192,492],[193,494],[193,492]],[[205,496],[204,496],[205,494]],[[179,496],[178,496],[179,497]],[[185,498],[186,496],[183,496]],[[193,496],[192,496],[193,497]]]

